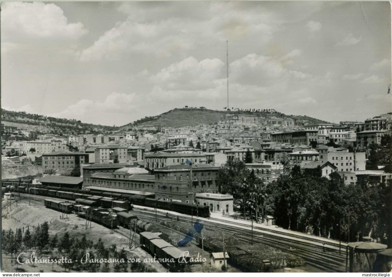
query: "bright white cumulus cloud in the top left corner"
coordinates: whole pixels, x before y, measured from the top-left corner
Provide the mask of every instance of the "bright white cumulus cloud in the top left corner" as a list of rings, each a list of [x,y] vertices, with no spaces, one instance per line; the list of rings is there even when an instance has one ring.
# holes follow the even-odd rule
[[[83,24],[68,23],[63,10],[43,2],[2,3],[2,39],[77,40],[88,31]],[[12,35],[12,36],[11,36]]]

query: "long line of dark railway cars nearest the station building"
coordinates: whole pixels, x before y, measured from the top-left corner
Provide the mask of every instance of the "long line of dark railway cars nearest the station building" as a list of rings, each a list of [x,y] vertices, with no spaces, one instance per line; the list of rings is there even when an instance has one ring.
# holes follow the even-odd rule
[[[19,190],[20,189],[20,190]],[[98,206],[105,208],[124,208],[132,209],[132,205],[147,206],[152,208],[159,208],[162,210],[169,210],[181,214],[197,215],[200,217],[210,217],[209,206],[192,205],[190,203],[183,203],[178,201],[165,201],[162,199],[149,198],[147,196],[118,194],[113,192],[100,192],[94,190],[79,190],[77,188],[64,188],[46,186],[45,188],[26,188],[18,187],[20,192],[36,194],[40,196],[58,197],[76,201],[76,199],[90,200],[97,202]]]

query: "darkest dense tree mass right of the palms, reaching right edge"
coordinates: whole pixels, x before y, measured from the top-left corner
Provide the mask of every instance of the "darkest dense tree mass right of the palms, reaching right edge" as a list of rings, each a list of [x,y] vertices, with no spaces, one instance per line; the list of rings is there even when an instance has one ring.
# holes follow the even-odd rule
[[[390,185],[367,179],[345,185],[337,172],[327,179],[319,167],[303,172],[294,167],[267,186],[265,207],[283,228],[335,239],[341,231],[348,241],[372,236],[385,243],[392,232]]]

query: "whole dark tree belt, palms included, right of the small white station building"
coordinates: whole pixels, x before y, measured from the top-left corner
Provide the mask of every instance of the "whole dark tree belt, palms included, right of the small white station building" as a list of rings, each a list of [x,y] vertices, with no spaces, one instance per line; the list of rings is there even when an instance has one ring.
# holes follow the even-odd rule
[[[256,220],[268,214],[290,230],[334,239],[341,234],[347,241],[371,236],[387,243],[391,183],[358,179],[356,185],[345,185],[337,172],[329,177],[322,177],[320,167],[301,171],[296,166],[265,184],[242,161],[228,161],[217,184],[220,193],[233,195],[243,214]]]

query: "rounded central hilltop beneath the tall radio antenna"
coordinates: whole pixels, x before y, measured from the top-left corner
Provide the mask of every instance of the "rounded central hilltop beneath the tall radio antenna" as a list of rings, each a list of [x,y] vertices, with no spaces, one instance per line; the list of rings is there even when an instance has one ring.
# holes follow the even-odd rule
[[[152,127],[172,127],[180,128],[186,126],[196,126],[199,124],[214,124],[220,120],[221,116],[226,114],[249,114],[256,115],[261,121],[265,119],[293,119],[296,124],[316,124],[316,123],[328,123],[327,121],[319,120],[316,118],[310,118],[309,116],[294,116],[285,115],[280,112],[251,112],[251,111],[224,111],[224,110],[209,110],[209,109],[198,109],[198,108],[183,108],[173,109],[160,114],[158,116],[145,117],[143,119],[136,120],[127,125],[121,126],[120,130],[130,129],[149,129]]]

